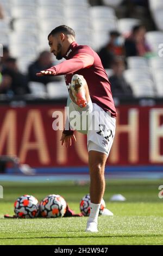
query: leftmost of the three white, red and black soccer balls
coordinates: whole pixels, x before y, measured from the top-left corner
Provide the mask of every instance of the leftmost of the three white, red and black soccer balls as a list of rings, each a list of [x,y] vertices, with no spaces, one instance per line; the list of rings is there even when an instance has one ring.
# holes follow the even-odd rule
[[[39,215],[39,202],[29,194],[18,197],[14,203],[14,212],[18,218],[34,218]]]

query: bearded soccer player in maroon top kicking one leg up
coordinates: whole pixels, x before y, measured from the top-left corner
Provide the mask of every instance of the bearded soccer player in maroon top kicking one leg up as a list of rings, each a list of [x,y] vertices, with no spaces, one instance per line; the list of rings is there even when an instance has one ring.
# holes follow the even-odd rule
[[[36,75],[65,75],[70,112],[76,111],[83,119],[86,114],[94,117],[89,119],[85,130],[79,131],[87,135],[90,170],[91,211],[85,231],[97,232],[99,208],[105,190],[104,168],[115,136],[117,115],[110,83],[98,54],[87,45],[78,45],[72,28],[65,25],[54,28],[48,35],[48,42],[56,58],[66,60]],[[68,119],[70,121],[70,116]],[[95,120],[96,129],[91,126],[92,120]],[[72,139],[76,142],[72,128],[70,122],[62,133],[61,144],[66,147],[71,146]]]

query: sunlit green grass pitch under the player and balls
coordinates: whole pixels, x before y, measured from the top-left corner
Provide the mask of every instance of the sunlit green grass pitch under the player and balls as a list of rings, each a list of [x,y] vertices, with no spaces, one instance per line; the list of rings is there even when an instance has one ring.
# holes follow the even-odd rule
[[[0,182],[0,245],[162,245],[163,199],[158,187],[163,180],[111,180],[106,182],[104,200],[114,216],[98,218],[98,233],[85,233],[87,217],[30,220],[4,219],[13,215],[17,197],[32,194],[41,200],[48,194],[60,194],[70,208],[79,212],[80,199],[89,192],[89,184],[49,182],[17,184]],[[110,202],[113,194],[123,194],[126,202]]]

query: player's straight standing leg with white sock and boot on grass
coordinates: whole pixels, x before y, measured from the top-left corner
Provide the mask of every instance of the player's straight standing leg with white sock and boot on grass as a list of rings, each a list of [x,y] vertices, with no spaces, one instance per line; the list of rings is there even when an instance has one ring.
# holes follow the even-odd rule
[[[104,153],[94,150],[89,151],[91,211],[87,221],[87,232],[98,231],[97,219],[105,191],[104,169],[107,158],[108,156]]]

